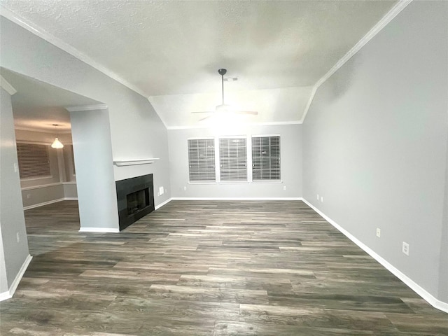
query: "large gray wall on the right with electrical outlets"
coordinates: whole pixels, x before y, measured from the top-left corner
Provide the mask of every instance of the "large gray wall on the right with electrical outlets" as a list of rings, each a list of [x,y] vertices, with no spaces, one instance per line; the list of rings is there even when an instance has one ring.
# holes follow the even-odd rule
[[[444,302],[447,11],[407,6],[321,85],[303,125],[304,198]]]

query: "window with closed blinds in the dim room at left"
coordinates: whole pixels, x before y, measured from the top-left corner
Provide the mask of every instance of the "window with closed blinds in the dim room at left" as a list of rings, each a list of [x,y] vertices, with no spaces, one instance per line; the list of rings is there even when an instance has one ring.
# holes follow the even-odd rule
[[[17,144],[20,179],[51,176],[48,146],[41,144]]]

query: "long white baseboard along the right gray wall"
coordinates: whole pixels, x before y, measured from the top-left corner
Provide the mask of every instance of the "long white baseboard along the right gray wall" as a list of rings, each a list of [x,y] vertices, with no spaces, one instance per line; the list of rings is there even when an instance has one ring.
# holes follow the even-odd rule
[[[303,199],[303,202],[305,202],[311,209],[316,211],[319,215],[321,215],[325,221],[328,221],[331,225],[333,225],[339,232],[341,232],[343,235],[345,235],[347,238],[349,238],[353,243],[358,245],[363,251],[365,251],[368,255],[370,255],[374,260],[377,260],[381,265],[383,265],[389,272],[391,272],[393,275],[395,275],[398,279],[403,281],[409,288],[414,290],[415,293],[420,295],[423,300],[426,300],[430,305],[433,307],[440,309],[441,311],[444,311],[448,313],[448,303],[440,301],[436,299],[433,295],[428,293],[427,290],[421,288],[421,286],[410,279],[406,274],[403,274],[400,269],[396,268],[395,266],[391,265],[386,259],[382,258],[381,255],[377,254],[375,251],[372,250],[369,246],[363,244],[360,240],[358,240],[356,237],[351,235],[350,232],[342,228],[339,224],[337,224],[335,221],[333,221],[330,217],[323,214],[322,211],[314,207],[313,204],[309,203],[307,200]]]

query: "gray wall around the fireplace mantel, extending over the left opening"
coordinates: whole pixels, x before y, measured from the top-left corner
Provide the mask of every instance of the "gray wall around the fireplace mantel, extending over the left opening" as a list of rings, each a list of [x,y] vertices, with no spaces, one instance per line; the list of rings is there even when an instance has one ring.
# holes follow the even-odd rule
[[[148,99],[6,18],[0,23],[1,66],[106,104],[113,160],[160,158],[153,165],[113,167],[114,179],[154,174],[155,190],[165,187],[164,195],[154,195],[155,205],[168,200],[167,129]]]

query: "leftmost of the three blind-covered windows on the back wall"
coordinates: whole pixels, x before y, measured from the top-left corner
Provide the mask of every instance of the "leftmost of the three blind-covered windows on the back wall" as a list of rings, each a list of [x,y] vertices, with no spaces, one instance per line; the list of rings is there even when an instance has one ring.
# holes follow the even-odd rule
[[[188,139],[190,182],[216,181],[215,140]]]

